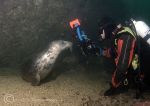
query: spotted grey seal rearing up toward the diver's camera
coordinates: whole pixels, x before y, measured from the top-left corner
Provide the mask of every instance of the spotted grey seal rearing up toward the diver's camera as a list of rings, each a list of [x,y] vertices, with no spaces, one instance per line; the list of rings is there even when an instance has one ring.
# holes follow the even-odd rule
[[[29,63],[31,67],[29,70],[23,71],[22,78],[31,82],[33,86],[39,85],[41,80],[45,79],[52,71],[62,52],[68,49],[72,51],[71,42],[64,40],[52,41],[48,49],[40,53],[33,63]]]

